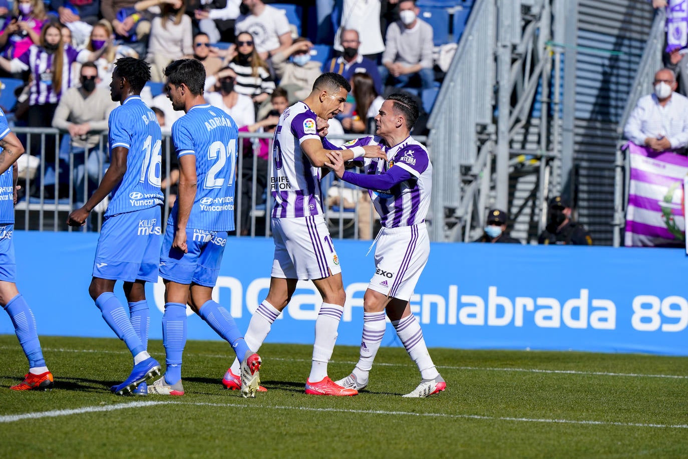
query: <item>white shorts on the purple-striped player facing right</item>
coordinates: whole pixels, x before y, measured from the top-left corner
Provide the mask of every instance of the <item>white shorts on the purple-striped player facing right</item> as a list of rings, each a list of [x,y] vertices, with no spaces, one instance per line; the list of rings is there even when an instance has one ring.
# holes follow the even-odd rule
[[[323,215],[273,218],[271,226],[275,240],[272,277],[306,280],[341,273]]]

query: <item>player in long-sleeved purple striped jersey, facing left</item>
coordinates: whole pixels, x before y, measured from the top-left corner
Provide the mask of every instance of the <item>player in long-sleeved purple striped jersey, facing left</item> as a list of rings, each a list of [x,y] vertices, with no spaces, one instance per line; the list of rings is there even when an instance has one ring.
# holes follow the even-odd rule
[[[386,158],[365,160],[361,174],[345,171],[341,153],[327,153],[325,162],[341,180],[368,189],[383,226],[376,239],[375,274],[363,296],[361,357],[352,374],[336,383],[356,390],[368,385],[385,334],[386,311],[420,370],[420,384],[405,397],[427,397],[447,387],[409,304],[430,253],[425,215],[430,206],[432,164],[425,147],[411,137],[417,119],[418,105],[412,98],[391,94],[375,117],[376,135],[343,146],[381,145]]]

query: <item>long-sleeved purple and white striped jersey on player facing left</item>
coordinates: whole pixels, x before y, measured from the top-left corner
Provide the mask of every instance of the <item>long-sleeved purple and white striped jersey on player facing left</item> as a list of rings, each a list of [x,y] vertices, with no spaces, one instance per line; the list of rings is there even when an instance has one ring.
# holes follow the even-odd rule
[[[393,167],[400,167],[411,174],[409,180],[404,180],[391,189],[368,191],[375,210],[380,215],[380,224],[385,228],[398,228],[424,222],[432,191],[432,163],[427,149],[411,136],[391,148],[387,148],[378,136],[347,142],[342,148],[357,145],[380,145],[387,153],[387,161],[365,158],[365,174],[380,174]]]

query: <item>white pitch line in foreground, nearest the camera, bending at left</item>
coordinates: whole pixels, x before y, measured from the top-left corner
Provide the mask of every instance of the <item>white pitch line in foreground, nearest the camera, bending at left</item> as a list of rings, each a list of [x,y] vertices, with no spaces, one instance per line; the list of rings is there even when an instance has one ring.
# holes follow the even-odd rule
[[[449,414],[449,413],[416,413],[384,411],[372,409],[341,409],[341,408],[310,408],[310,407],[290,407],[281,405],[241,405],[238,403],[206,403],[206,402],[176,402],[176,401],[145,401],[118,403],[116,405],[91,406],[76,409],[56,409],[50,412],[34,412],[25,414],[12,414],[0,416],[0,423],[13,423],[18,420],[54,418],[58,416],[70,416],[72,414],[84,414],[94,412],[109,412],[117,409],[143,408],[155,405],[194,405],[209,407],[229,407],[229,408],[254,408],[254,409],[276,409],[294,410],[305,412],[321,413],[347,413],[347,414],[369,414],[373,416],[415,416],[419,418],[450,418],[450,419],[477,419],[477,420],[504,420],[520,423],[547,423],[547,424],[574,424],[574,425],[614,425],[619,427],[651,427],[660,429],[688,429],[685,424],[647,424],[647,423],[621,423],[603,420],[572,420],[572,419],[546,419],[546,418],[510,418],[507,416],[482,416],[480,414]]]

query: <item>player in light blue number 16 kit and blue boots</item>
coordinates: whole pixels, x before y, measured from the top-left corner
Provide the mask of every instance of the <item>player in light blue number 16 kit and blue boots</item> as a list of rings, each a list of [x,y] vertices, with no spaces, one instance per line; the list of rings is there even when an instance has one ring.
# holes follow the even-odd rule
[[[146,350],[150,319],[144,288],[146,281],[158,281],[162,239],[162,134],[158,118],[140,97],[150,79],[151,70],[144,61],[125,57],[116,62],[110,95],[121,105],[109,118],[110,167],[91,198],[67,219],[70,226],[84,225],[90,211],[110,194],[89,294],[133,355],[129,377],[111,387],[118,395],[147,394],[146,380],[160,374],[161,368]],[[124,282],[129,314],[114,294],[118,280]]]

